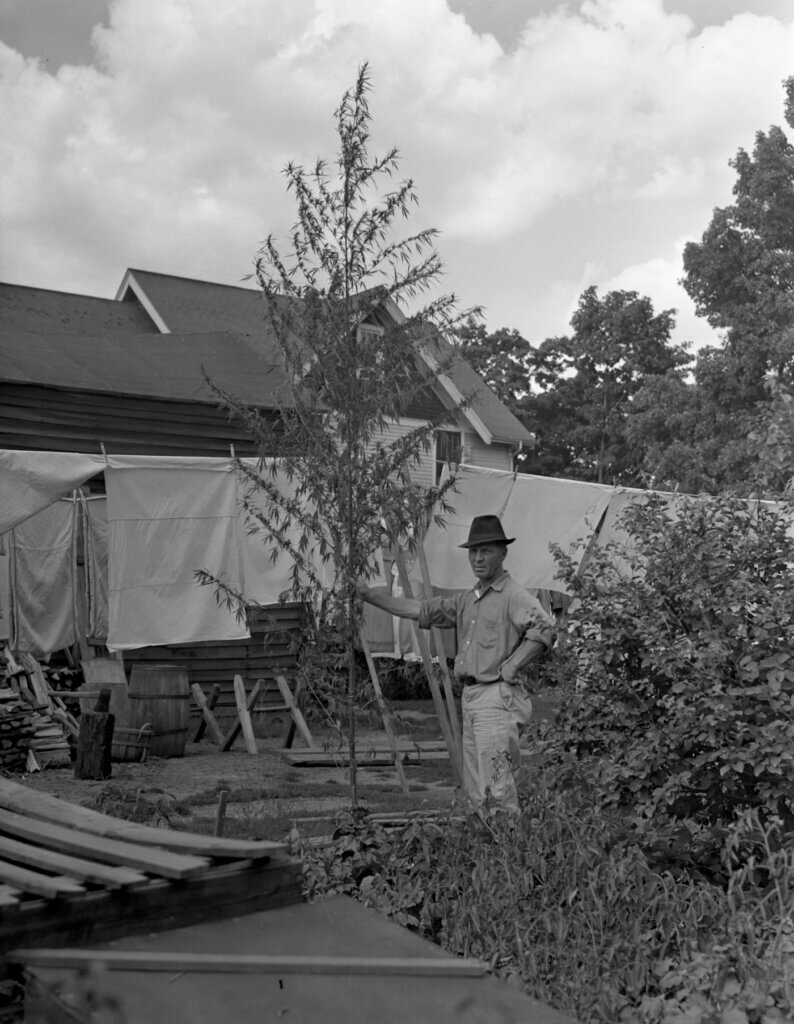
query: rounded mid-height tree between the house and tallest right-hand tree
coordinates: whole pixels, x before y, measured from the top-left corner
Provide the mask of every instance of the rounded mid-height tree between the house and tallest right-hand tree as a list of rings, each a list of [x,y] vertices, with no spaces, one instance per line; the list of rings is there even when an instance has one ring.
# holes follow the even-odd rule
[[[655,313],[636,292],[603,298],[594,287],[580,297],[573,334],[550,338],[533,353],[540,393],[528,401],[538,445],[526,468],[602,482],[639,482],[641,462],[626,422],[634,395],[649,379],[688,361],[670,342],[673,310]]]

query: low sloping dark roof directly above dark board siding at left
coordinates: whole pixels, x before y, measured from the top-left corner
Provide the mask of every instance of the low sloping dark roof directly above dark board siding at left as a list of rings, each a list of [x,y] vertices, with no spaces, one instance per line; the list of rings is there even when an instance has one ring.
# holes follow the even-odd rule
[[[271,407],[283,381],[245,338],[209,334],[33,334],[3,330],[0,381],[218,404],[204,373],[236,398]]]

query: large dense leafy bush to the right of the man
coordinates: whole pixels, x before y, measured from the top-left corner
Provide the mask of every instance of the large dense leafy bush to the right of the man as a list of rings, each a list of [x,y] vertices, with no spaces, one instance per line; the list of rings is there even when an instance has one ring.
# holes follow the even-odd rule
[[[596,548],[555,653],[558,750],[590,759],[600,799],[715,827],[754,808],[794,825],[794,541],[789,516],[738,499],[658,497]]]

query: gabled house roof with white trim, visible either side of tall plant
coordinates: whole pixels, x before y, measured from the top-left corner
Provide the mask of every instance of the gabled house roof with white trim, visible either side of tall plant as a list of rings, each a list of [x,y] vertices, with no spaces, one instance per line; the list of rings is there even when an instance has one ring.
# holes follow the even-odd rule
[[[258,289],[128,269],[116,297],[125,304],[136,299],[162,331],[232,330],[251,339],[266,358],[276,358],[277,346],[269,335]],[[387,304],[387,310],[394,319],[402,318],[393,303]],[[426,353],[431,367],[432,347]],[[440,384],[448,400],[457,406],[463,398],[471,399],[463,415],[486,443],[532,443],[533,435],[468,364],[454,357],[445,369]]]

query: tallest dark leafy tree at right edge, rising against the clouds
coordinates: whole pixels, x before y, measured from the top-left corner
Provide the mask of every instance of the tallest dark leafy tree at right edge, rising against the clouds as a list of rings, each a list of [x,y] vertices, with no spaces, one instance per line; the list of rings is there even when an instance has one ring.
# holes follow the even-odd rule
[[[794,128],[794,78],[785,92]],[[774,456],[758,441],[794,388],[794,146],[772,126],[756,134],[752,155],[739,150],[730,166],[734,202],[714,210],[701,241],[683,254],[682,283],[699,314],[724,332],[721,347],[698,355],[702,436],[691,443],[710,467],[703,486],[774,494],[794,475],[783,434]]]

